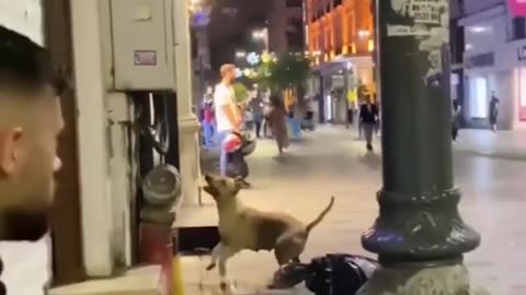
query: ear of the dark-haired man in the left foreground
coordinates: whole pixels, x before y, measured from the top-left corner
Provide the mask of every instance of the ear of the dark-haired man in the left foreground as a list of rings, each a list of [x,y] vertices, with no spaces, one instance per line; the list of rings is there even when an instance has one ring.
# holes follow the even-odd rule
[[[0,172],[10,176],[16,172],[21,156],[22,127],[0,131]]]

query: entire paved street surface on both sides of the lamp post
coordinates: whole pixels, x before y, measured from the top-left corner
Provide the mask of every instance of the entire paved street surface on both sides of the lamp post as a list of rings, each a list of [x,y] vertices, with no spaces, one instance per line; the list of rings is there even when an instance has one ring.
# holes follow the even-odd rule
[[[376,142],[379,144],[379,142]],[[312,232],[304,260],[325,252],[369,255],[359,237],[377,216],[375,194],[381,186],[381,160],[366,154],[355,133],[341,128],[320,128],[275,157],[272,141],[259,142],[250,156],[253,188],[241,192],[247,204],[261,210],[282,210],[302,221],[312,220],[336,197],[333,211]],[[460,205],[468,224],[482,234],[482,246],[467,255],[474,286],[496,295],[526,294],[526,228],[521,226],[526,209],[526,162],[456,154],[456,185],[464,192]],[[217,220],[209,197],[202,216]],[[370,256],[370,255],[369,255]],[[186,294],[221,294],[216,271],[206,272],[207,258],[182,259]],[[276,269],[268,252],[243,251],[228,266],[237,282],[233,294],[310,294],[304,287],[267,292],[264,286]]]

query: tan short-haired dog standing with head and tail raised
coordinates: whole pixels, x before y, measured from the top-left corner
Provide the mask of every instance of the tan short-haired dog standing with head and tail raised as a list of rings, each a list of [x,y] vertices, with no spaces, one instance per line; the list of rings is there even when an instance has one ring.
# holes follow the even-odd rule
[[[221,284],[226,284],[227,260],[240,250],[274,250],[277,263],[299,262],[310,231],[331,211],[329,205],[311,223],[305,225],[297,219],[279,212],[262,212],[243,205],[238,198],[241,187],[238,181],[220,176],[205,176],[203,188],[217,204],[221,240],[214,247],[207,270],[219,264]]]

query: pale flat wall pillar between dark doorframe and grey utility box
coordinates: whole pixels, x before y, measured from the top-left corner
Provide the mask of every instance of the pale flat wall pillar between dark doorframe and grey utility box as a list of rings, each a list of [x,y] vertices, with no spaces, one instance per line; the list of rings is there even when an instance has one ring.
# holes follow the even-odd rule
[[[113,272],[112,200],[99,1],[71,0],[82,240],[89,276]]]

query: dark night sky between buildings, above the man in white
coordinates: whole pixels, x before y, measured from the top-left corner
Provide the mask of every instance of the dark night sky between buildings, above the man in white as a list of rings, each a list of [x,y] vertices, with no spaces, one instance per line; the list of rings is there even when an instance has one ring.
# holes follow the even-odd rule
[[[271,3],[270,0],[214,0],[208,32],[216,73],[222,63],[233,62],[236,49],[245,46],[250,32],[265,24]]]

